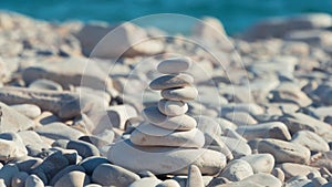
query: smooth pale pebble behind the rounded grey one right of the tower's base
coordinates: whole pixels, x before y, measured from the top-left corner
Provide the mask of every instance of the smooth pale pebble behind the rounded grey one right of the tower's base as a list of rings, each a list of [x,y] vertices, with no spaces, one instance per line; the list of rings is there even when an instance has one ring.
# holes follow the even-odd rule
[[[274,167],[274,157],[271,154],[247,155],[240,159],[248,162],[255,174],[270,174]]]

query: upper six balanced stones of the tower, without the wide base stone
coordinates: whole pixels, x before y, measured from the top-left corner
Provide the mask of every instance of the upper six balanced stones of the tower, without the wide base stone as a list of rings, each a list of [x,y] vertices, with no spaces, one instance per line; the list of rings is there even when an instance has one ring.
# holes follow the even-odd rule
[[[187,71],[189,59],[170,59],[159,63],[157,71],[166,75],[153,80],[149,87],[162,91],[158,106],[143,110],[147,123],[131,135],[137,146],[166,146],[199,148],[205,144],[204,134],[196,128],[195,118],[186,115],[188,104],[198,96],[194,79]]]

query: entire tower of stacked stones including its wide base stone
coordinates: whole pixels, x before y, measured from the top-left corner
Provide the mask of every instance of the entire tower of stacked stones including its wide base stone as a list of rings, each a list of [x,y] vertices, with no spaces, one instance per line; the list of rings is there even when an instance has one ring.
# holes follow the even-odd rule
[[[158,64],[157,71],[165,75],[153,80],[149,87],[160,91],[163,98],[157,106],[143,110],[145,122],[129,138],[110,148],[107,157],[112,163],[156,175],[187,174],[190,164],[209,175],[225,167],[225,155],[203,148],[205,136],[195,118],[186,115],[186,102],[198,96],[193,76],[184,73],[190,65],[188,58],[168,59]]]

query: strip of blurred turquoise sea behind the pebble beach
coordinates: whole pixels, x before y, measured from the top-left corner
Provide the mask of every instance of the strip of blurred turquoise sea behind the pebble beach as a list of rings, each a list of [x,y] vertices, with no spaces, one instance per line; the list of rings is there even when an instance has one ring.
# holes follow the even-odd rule
[[[229,34],[270,17],[309,12],[332,14],[332,0],[0,0],[0,10],[49,21],[128,21],[152,13],[220,19]]]

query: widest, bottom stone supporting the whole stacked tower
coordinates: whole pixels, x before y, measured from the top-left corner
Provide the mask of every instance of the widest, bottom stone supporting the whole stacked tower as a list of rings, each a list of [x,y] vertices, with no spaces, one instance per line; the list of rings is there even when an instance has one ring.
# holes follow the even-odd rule
[[[132,155],[135,155],[133,159]],[[198,166],[203,175],[215,175],[226,166],[221,153],[205,148],[138,147],[128,139],[111,146],[107,159],[132,172],[151,170],[159,174],[185,174],[188,166]],[[172,162],[170,162],[172,160]]]

